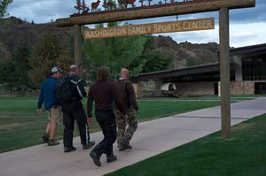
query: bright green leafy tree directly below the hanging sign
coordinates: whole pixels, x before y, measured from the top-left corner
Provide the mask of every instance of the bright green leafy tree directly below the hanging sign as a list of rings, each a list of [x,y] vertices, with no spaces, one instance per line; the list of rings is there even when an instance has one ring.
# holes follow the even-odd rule
[[[115,23],[108,24],[108,27]],[[99,66],[110,67],[111,78],[115,78],[122,67],[129,65],[142,55],[145,44],[144,36],[127,36],[106,39],[91,39],[83,43],[85,61],[83,62],[90,70],[90,78],[95,80]],[[137,74],[142,71],[142,63],[131,66],[130,72]]]

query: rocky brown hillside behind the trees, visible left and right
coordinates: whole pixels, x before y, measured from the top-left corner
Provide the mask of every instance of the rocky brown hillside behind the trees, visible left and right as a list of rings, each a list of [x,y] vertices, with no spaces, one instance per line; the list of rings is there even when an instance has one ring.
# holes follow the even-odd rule
[[[7,20],[7,19],[4,19]],[[20,42],[31,46],[43,33],[57,34],[64,47],[68,47],[73,36],[73,27],[56,27],[54,22],[46,24],[28,23],[11,17],[5,25],[0,25],[0,62],[12,57],[12,51]],[[2,21],[3,22],[3,21]],[[186,65],[215,63],[217,43],[192,44],[190,42],[176,43],[171,37],[158,36],[153,39],[153,48],[161,48],[170,52],[174,57],[176,68]]]

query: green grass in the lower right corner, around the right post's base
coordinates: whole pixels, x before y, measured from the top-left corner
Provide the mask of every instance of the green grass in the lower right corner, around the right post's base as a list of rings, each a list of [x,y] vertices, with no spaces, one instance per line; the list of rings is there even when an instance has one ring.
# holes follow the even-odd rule
[[[107,176],[264,176],[265,129],[266,114],[233,126],[229,140],[210,134]]]

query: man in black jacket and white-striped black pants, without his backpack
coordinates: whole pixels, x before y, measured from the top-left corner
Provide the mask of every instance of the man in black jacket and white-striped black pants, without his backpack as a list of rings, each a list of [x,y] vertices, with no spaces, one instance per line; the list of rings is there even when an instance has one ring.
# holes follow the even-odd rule
[[[83,109],[82,97],[86,97],[84,81],[79,76],[80,70],[77,65],[70,66],[70,82],[71,82],[71,99],[62,101],[63,124],[64,129],[64,151],[74,151],[73,131],[74,119],[79,126],[80,137],[82,141],[82,149],[89,149],[95,144],[90,142],[89,125],[86,112]]]

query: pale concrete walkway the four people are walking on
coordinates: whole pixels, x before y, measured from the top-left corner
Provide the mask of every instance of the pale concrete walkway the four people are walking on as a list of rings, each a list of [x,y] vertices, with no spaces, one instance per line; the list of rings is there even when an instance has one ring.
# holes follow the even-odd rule
[[[231,124],[266,113],[266,98],[257,98],[231,104]],[[142,110],[145,111],[145,110]],[[45,144],[0,154],[1,176],[98,176],[153,157],[168,149],[199,139],[220,130],[220,107],[192,111],[164,119],[139,124],[131,144],[132,150],[118,151],[119,158],[111,164],[101,157],[102,166],[97,167],[89,157],[90,149],[83,150],[79,138],[74,138],[77,150],[63,152],[63,146],[48,147]],[[3,137],[3,136],[2,136]],[[99,142],[101,133],[91,134]],[[62,143],[62,142],[61,142]]]

